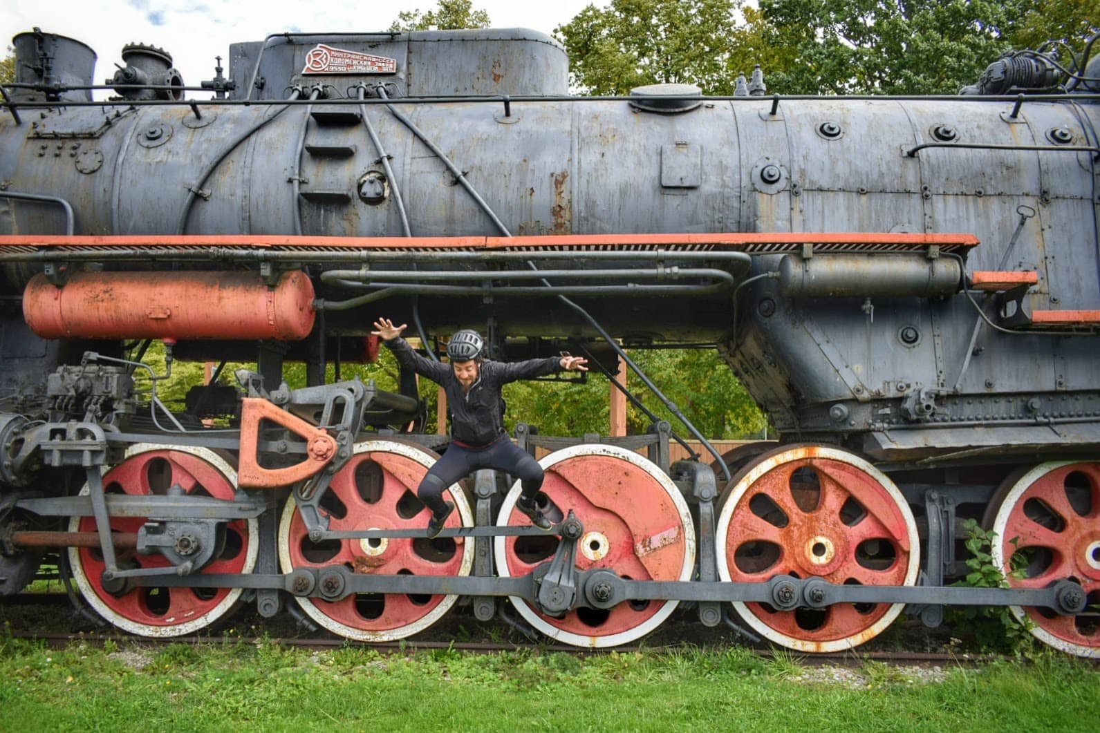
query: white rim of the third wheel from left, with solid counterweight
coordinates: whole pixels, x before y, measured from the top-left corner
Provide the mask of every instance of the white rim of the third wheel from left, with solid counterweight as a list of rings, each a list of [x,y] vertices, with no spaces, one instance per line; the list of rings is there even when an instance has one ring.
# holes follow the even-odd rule
[[[688,508],[688,502],[680,495],[680,489],[676,485],[664,475],[656,464],[641,457],[632,451],[627,451],[615,445],[601,445],[601,444],[582,444],[582,445],[571,445],[566,448],[556,451],[548,456],[543,457],[539,462],[543,470],[554,466],[558,463],[573,458],[575,456],[590,456],[590,455],[601,455],[610,456],[616,458],[622,458],[623,460],[629,462],[635,466],[644,469],[664,489],[666,493],[669,495],[673,504],[675,506],[676,512],[680,518],[681,530],[684,536],[684,564],[680,573],[679,580],[691,580],[692,575],[695,571],[695,527],[691,521],[691,511]],[[504,503],[501,506],[499,514],[497,515],[497,526],[507,526],[508,517],[512,514],[512,510],[516,506],[516,500],[520,496],[521,485],[516,481],[508,495],[504,499]],[[508,570],[508,551],[505,543],[505,537],[499,536],[494,540],[494,557],[496,560],[497,574],[501,577],[510,577]],[[579,592],[583,592],[579,589]],[[527,601],[518,596],[509,596],[512,604],[515,607],[516,611],[529,623],[531,626],[546,634],[554,641],[562,642],[563,644],[570,644],[572,646],[583,646],[588,648],[602,648],[607,646],[618,646],[620,644],[629,644],[630,642],[641,638],[646,634],[652,632],[657,629],[672,611],[675,610],[676,606],[680,604],[679,601],[666,601],[661,608],[649,619],[639,623],[637,626],[619,632],[616,634],[608,634],[605,636],[600,635],[585,635],[578,634],[571,631],[565,631],[559,629],[546,621],[535,609],[532,609]]]

